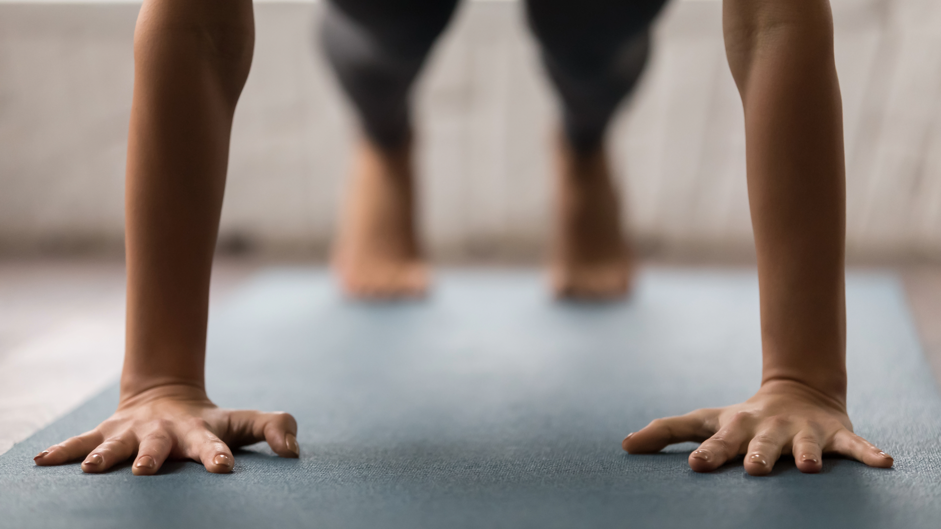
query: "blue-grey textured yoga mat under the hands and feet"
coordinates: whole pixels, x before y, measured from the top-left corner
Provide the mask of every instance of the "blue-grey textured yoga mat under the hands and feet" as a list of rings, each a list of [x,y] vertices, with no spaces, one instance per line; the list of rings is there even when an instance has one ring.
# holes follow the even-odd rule
[[[686,466],[692,445],[629,456],[653,418],[758,387],[758,285],[748,273],[646,273],[635,297],[552,303],[522,272],[441,274],[405,305],[343,301],[322,272],[273,269],[214,314],[210,395],[295,413],[303,456],[236,453],[231,475],[191,462],[35,467],[94,426],[116,390],[0,457],[3,527],[910,527],[941,525],[941,400],[897,282],[848,283],[850,407],[893,470],[792,460]]]

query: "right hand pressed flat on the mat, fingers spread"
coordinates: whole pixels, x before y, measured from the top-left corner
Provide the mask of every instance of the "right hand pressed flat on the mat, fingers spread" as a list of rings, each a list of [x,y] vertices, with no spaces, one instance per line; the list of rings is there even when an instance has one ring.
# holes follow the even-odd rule
[[[765,475],[781,454],[793,454],[803,473],[819,473],[823,454],[852,457],[870,467],[888,468],[892,457],[853,433],[845,406],[792,380],[762,384],[758,393],[734,406],[696,409],[657,419],[625,438],[630,454],[659,452],[668,444],[702,442],[690,454],[690,468],[711,472],[745,455],[745,471]]]

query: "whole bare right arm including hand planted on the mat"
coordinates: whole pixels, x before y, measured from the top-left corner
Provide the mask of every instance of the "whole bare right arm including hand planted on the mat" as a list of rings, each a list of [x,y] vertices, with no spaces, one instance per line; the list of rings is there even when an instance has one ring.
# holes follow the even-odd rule
[[[744,455],[745,470],[762,475],[782,453],[807,473],[821,471],[823,453],[890,467],[846,412],[845,169],[829,2],[725,0],[723,25],[745,113],[761,388],[739,405],[658,419],[624,449],[702,441],[690,455],[701,472]]]

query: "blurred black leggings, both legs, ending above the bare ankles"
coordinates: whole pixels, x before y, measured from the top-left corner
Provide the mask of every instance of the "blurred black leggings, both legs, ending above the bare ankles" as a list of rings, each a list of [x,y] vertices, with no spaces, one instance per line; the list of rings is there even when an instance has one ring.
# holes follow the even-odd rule
[[[598,147],[644,70],[649,25],[666,0],[527,0],[529,24],[580,151]],[[327,57],[376,144],[411,136],[409,92],[457,0],[330,0]]]

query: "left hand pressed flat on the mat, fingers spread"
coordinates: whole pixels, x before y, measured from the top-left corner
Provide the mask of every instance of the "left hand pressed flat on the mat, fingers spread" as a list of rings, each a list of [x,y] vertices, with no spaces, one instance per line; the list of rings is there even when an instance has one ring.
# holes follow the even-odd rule
[[[258,441],[280,457],[298,457],[297,423],[288,413],[216,408],[192,386],[159,386],[122,399],[118,410],[95,429],[50,446],[37,465],[61,465],[85,457],[82,471],[104,472],[135,457],[135,475],[160,470],[167,457],[200,461],[211,473],[230,473],[230,447]]]

